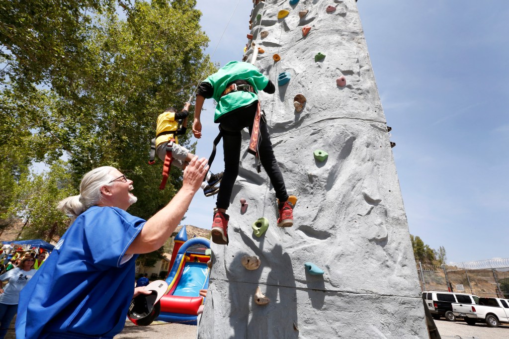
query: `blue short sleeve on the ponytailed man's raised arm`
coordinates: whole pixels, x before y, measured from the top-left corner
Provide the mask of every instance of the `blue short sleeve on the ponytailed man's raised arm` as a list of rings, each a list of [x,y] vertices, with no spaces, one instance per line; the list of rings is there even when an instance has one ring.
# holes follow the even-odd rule
[[[116,207],[102,207],[88,215],[84,227],[85,244],[97,267],[121,267],[129,245],[145,225],[145,220]]]

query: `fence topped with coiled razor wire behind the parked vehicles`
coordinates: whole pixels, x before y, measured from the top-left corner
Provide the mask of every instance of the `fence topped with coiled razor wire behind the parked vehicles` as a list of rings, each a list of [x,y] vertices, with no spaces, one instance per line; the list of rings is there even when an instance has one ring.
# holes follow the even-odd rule
[[[509,259],[426,265],[416,262],[422,291],[463,292],[509,299]]]

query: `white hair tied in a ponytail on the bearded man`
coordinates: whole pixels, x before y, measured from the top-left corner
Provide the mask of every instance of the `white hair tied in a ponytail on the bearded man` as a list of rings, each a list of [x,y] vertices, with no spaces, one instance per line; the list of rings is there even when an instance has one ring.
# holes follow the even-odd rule
[[[102,166],[83,176],[79,184],[79,195],[69,196],[62,200],[56,207],[65,214],[71,216],[73,220],[92,206],[101,202],[101,187],[112,186],[111,180],[114,180],[111,171],[115,167]]]

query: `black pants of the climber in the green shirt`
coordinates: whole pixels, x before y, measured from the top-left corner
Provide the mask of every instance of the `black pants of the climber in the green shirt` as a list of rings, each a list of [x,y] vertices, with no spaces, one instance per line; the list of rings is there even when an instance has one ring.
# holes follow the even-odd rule
[[[257,106],[258,102],[254,102],[219,119],[219,126],[226,133],[223,134],[224,175],[219,186],[219,192],[217,193],[217,208],[228,209],[230,206],[233,185],[239,174],[240,147],[242,143],[240,131],[248,127],[249,135],[251,135]],[[260,120],[260,134],[258,156],[265,172],[269,175],[272,186],[274,186],[277,199],[280,202],[285,202],[288,200],[285,181],[272,151],[267,123],[263,119]]]

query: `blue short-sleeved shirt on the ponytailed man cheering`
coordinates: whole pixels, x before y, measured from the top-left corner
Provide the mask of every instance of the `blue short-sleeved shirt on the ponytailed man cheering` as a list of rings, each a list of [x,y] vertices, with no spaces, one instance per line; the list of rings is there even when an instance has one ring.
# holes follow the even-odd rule
[[[16,337],[120,333],[137,257],[125,252],[144,225],[116,207],[93,206],[80,214],[21,291]]]

